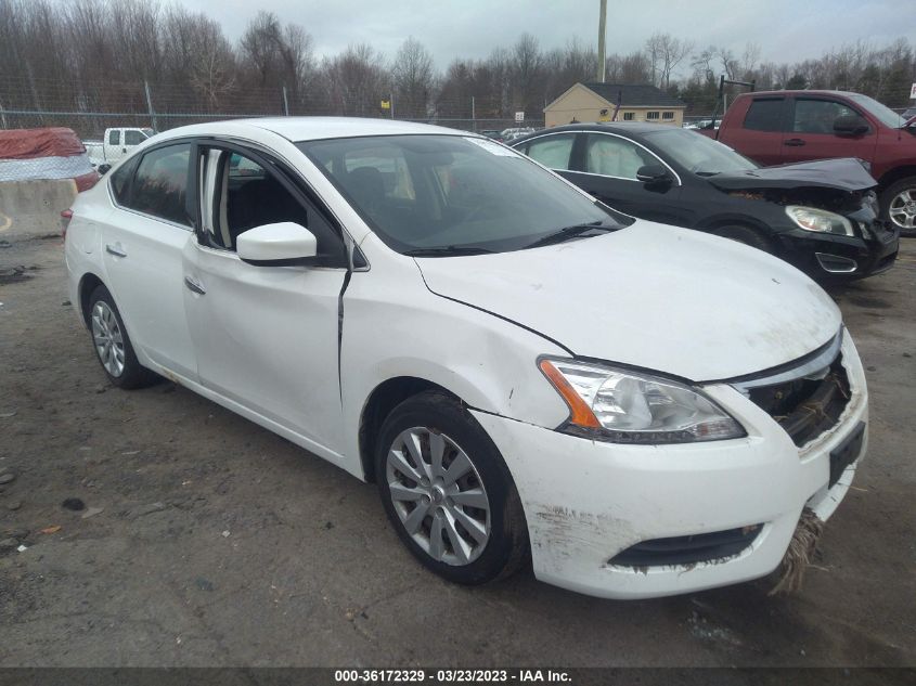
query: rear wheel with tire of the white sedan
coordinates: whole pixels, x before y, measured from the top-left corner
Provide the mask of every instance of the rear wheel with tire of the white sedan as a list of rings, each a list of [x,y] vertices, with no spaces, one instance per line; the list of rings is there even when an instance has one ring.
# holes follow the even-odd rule
[[[88,319],[95,359],[114,386],[142,388],[158,378],[138,362],[115,299],[105,286],[96,286],[89,296]]]

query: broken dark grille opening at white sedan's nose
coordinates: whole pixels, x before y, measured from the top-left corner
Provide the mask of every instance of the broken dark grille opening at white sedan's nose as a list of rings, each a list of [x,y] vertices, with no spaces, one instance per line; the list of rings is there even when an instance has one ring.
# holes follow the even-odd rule
[[[821,372],[750,390],[750,399],[799,446],[836,426],[849,397],[849,377],[840,354]]]

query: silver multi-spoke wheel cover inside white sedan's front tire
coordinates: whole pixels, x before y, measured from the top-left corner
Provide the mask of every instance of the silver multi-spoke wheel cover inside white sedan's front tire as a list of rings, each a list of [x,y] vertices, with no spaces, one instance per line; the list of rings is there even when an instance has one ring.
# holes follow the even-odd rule
[[[444,433],[413,427],[388,451],[388,491],[413,541],[434,560],[464,566],[490,540],[490,501],[470,457]]]

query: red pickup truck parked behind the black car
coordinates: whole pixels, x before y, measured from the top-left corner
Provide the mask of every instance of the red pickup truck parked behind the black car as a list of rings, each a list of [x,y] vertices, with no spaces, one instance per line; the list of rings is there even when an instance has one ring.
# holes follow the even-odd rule
[[[908,125],[908,126],[907,126]],[[916,120],[860,93],[743,93],[710,135],[761,165],[859,157],[878,181],[881,218],[916,231]]]

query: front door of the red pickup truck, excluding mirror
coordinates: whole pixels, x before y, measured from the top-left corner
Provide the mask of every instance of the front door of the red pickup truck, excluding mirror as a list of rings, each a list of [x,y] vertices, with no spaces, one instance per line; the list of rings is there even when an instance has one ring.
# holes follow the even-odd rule
[[[834,133],[837,117],[857,115],[868,118],[852,104],[824,95],[796,95],[783,134],[783,163],[827,159],[830,157],[861,157],[872,160],[878,141],[877,129],[869,124],[862,135]]]

